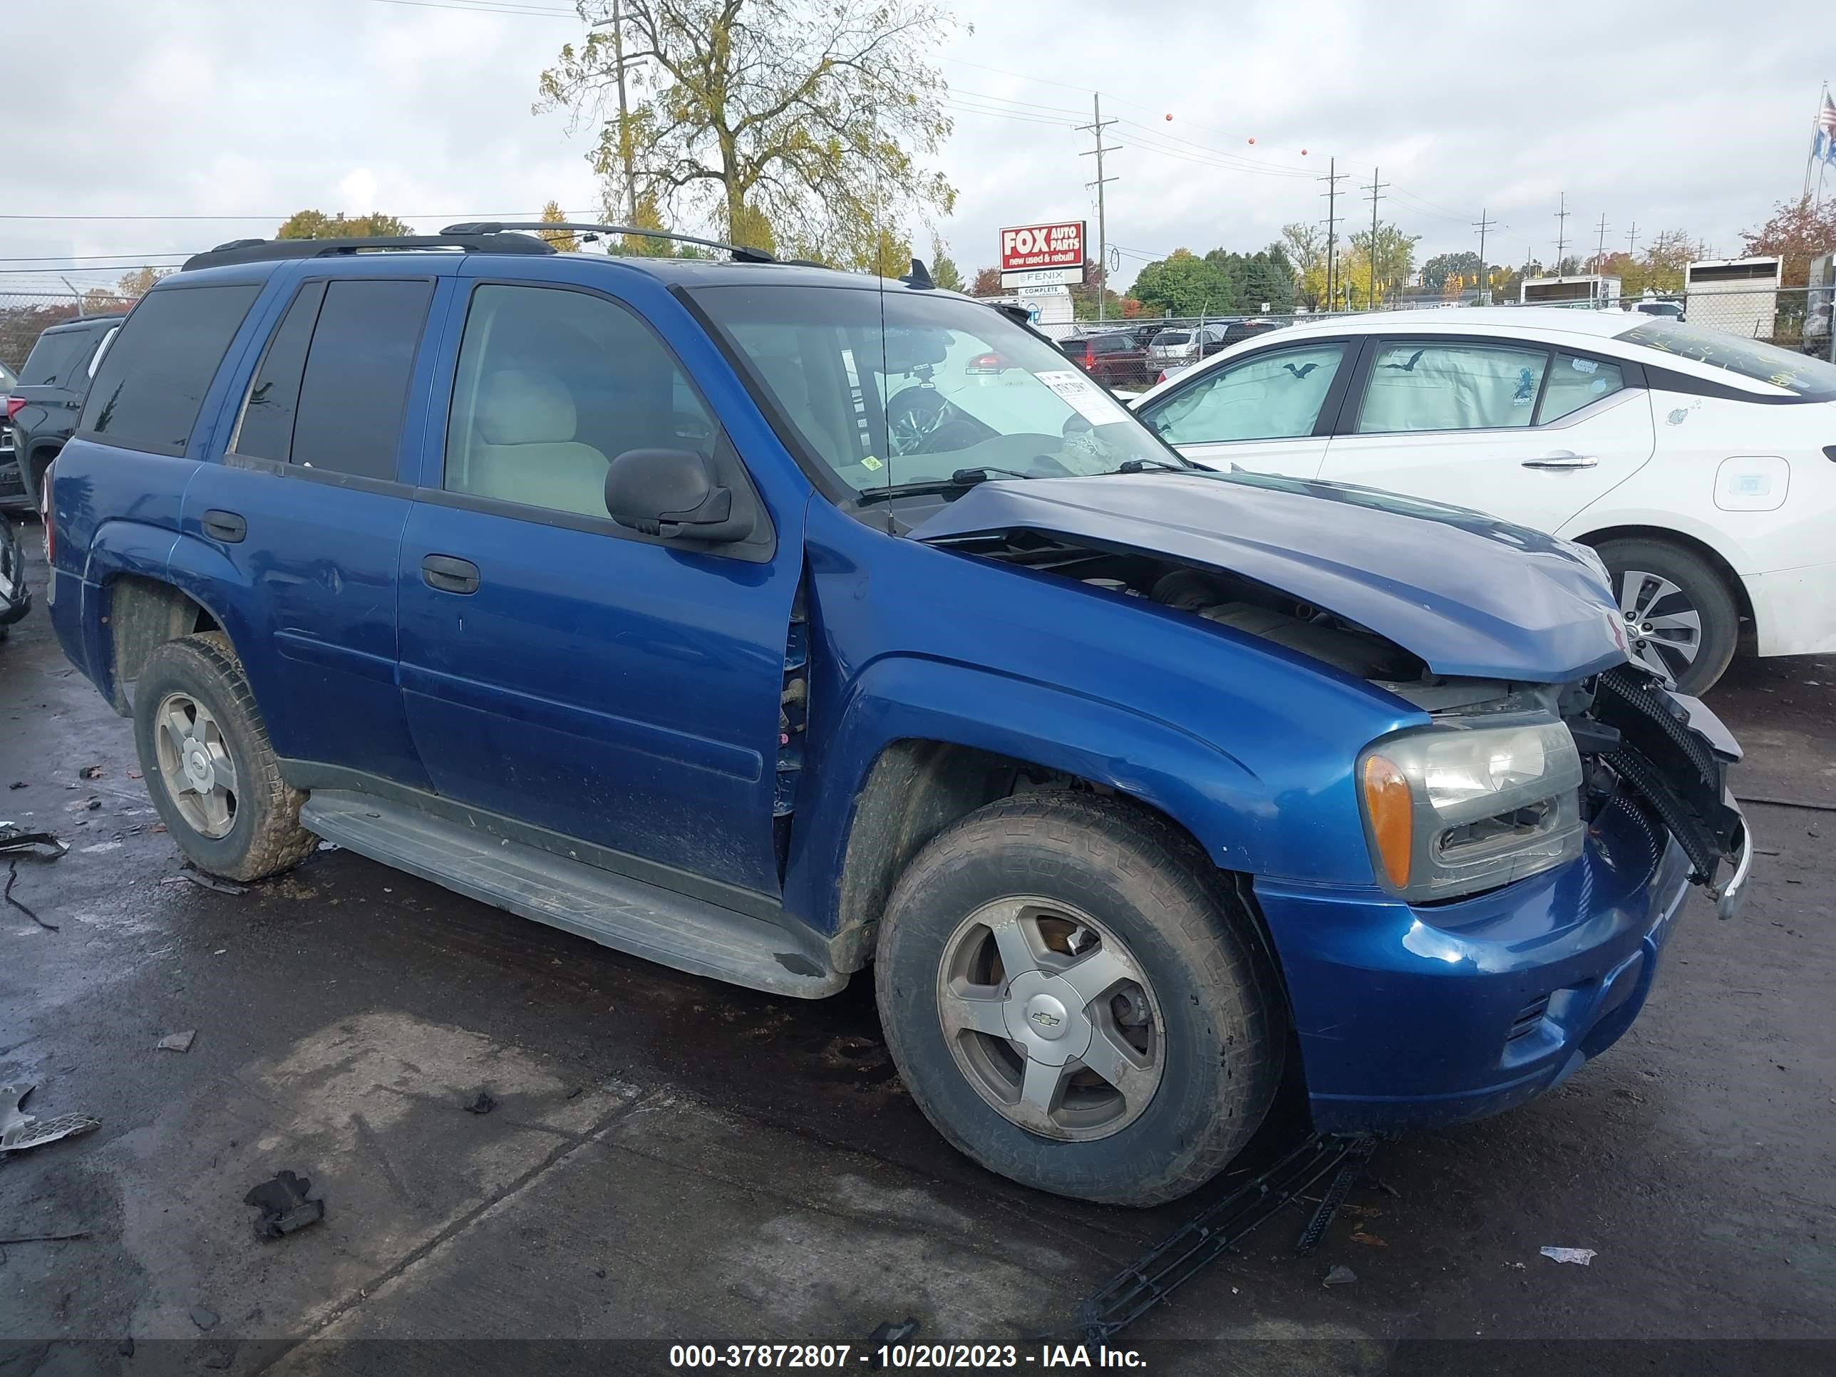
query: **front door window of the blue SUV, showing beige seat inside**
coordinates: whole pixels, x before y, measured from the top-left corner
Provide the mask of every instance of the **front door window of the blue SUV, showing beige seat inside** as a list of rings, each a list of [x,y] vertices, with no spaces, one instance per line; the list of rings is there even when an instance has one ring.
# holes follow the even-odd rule
[[[606,468],[626,450],[714,453],[714,419],[657,336],[586,292],[479,286],[446,424],[446,490],[606,516]]]

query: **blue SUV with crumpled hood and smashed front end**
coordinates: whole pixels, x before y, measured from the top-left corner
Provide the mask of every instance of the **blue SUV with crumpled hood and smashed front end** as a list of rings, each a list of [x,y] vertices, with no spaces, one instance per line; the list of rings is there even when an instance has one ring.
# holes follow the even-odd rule
[[[1278,1083],[1517,1105],[1689,881],[1737,907],[1739,747],[1588,551],[1195,470],[920,264],[532,228],[230,244],[105,356],[53,621],[198,867],[325,837],[756,990],[872,966],[946,1138],[1125,1204]]]

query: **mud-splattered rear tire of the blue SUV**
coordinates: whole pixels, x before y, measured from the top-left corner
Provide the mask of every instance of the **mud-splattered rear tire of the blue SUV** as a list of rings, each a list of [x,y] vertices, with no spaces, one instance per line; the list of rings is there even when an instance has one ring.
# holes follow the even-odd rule
[[[207,821],[200,826],[198,795],[180,804],[173,753],[162,762],[162,733],[171,740],[160,720],[162,709],[187,701],[195,705],[193,712],[204,709],[217,727],[211,747],[228,756],[231,769],[224,771],[226,777],[233,771],[235,789],[226,789],[218,826]],[[134,687],[134,745],[152,806],[173,841],[200,870],[230,879],[264,879],[299,865],[318,845],[299,826],[299,804],[307,795],[281,778],[261,709],[242,677],[242,661],[220,632],[167,641],[147,657]],[[178,755],[184,756],[182,751]],[[220,835],[211,835],[218,830]]]

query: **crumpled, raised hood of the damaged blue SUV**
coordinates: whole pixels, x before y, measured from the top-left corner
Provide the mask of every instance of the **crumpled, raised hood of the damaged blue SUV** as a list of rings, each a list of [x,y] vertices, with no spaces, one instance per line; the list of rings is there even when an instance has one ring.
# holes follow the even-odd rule
[[[911,536],[1001,531],[1228,569],[1450,677],[1568,683],[1627,659],[1612,589],[1573,545],[1394,492],[1208,470],[990,481]]]

